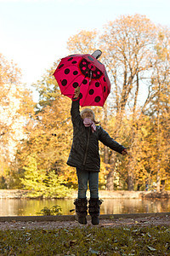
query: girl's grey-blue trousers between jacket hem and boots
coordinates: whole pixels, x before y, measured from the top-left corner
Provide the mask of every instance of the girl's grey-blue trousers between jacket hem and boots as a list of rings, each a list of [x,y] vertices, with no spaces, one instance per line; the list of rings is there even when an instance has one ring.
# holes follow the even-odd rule
[[[88,172],[77,168],[78,198],[86,198],[88,183],[90,198],[99,197],[99,172]]]

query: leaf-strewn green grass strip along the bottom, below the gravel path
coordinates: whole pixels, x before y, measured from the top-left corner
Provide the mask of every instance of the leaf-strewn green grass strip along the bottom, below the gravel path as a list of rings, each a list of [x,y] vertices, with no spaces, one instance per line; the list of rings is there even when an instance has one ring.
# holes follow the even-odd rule
[[[0,255],[170,255],[170,228],[0,230]]]

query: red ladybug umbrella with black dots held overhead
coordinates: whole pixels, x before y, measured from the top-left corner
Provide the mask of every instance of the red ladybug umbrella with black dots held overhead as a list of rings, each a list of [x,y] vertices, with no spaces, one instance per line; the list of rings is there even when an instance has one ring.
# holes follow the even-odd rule
[[[54,77],[63,95],[72,99],[75,88],[80,87],[82,107],[103,107],[111,92],[111,83],[105,66],[97,60],[97,57],[99,55],[95,58],[95,54],[69,55],[61,59],[54,72]]]

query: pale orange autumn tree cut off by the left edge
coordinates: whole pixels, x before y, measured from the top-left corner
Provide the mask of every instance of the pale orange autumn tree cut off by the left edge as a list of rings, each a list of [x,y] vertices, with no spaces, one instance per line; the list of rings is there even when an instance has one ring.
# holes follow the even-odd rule
[[[14,161],[15,148],[24,137],[23,116],[20,114],[26,89],[20,82],[21,73],[13,61],[0,55],[0,168],[5,176],[10,162]],[[7,182],[7,181],[6,181]]]

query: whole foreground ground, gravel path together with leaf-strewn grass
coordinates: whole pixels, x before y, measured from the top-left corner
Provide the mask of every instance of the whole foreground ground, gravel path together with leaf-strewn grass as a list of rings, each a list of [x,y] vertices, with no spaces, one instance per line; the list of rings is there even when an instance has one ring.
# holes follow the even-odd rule
[[[102,217],[102,216],[101,216]],[[0,255],[170,255],[169,214],[101,218],[93,226],[77,220],[0,222]]]

